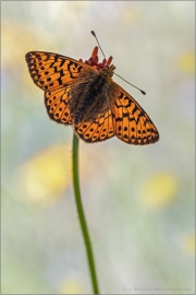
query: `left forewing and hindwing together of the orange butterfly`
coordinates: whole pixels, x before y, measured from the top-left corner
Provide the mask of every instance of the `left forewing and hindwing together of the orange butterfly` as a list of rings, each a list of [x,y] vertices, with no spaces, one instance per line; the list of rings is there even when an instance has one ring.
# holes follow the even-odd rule
[[[34,83],[45,91],[45,105],[49,117],[60,123],[72,125],[70,111],[71,85],[84,72],[95,71],[75,59],[44,51],[29,51],[25,56]]]

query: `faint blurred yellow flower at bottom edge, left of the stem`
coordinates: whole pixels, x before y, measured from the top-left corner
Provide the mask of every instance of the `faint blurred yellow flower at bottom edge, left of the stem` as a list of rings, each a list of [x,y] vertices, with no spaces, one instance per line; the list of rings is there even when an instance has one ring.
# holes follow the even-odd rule
[[[60,287],[61,294],[85,294],[83,285],[74,279],[69,279]]]

